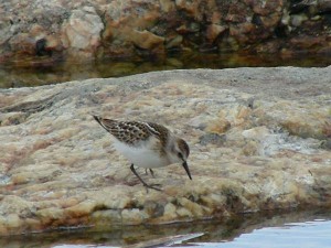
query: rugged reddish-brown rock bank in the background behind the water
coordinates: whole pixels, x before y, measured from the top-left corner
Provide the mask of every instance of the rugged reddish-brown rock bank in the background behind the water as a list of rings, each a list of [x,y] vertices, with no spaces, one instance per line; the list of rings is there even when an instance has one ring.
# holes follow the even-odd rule
[[[329,1],[0,0],[0,61],[167,50],[330,52]],[[309,11],[307,11],[309,9]],[[142,51],[141,51],[142,50]]]

